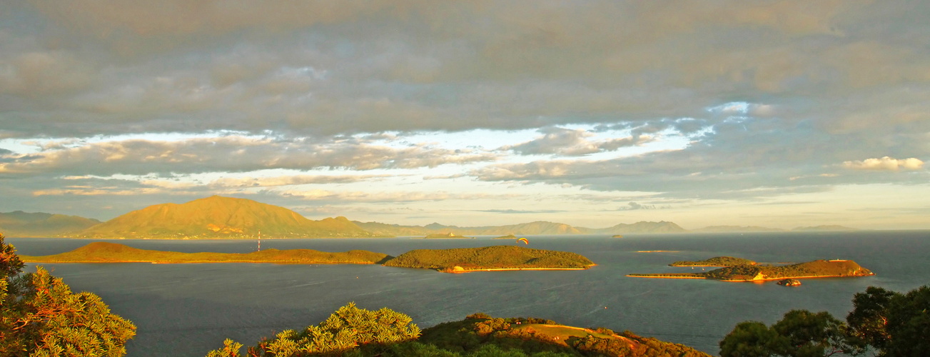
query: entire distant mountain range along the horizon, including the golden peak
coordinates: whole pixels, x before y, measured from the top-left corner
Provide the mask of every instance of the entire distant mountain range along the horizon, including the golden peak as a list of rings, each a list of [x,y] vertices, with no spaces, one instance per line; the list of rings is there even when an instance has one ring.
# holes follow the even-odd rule
[[[798,227],[791,231],[853,231],[843,226]],[[565,223],[535,221],[506,226],[458,227],[432,223],[405,226],[348,218],[312,220],[277,205],[221,196],[186,204],[150,205],[138,211],[100,222],[97,219],[21,211],[0,213],[0,232],[9,237],[74,238],[252,238],[261,232],[269,238],[338,238],[425,236],[436,233],[457,235],[559,235],[683,233],[681,226],[667,221],[620,223],[607,228],[573,227]],[[711,226],[696,232],[784,231],[765,227]]]

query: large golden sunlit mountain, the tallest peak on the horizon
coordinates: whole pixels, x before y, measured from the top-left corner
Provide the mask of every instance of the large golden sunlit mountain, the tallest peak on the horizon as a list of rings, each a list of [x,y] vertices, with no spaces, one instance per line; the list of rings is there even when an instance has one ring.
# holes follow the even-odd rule
[[[81,231],[88,238],[370,237],[344,217],[311,220],[277,205],[211,196],[186,204],[150,205]]]

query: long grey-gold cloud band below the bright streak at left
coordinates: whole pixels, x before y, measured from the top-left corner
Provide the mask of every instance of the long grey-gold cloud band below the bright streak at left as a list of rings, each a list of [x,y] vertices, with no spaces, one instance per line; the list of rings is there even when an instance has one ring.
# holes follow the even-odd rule
[[[435,167],[493,161],[497,155],[472,150],[449,150],[427,144],[392,148],[351,139],[268,139],[241,136],[154,141],[103,141],[49,150],[33,155],[4,156],[0,173],[33,175],[247,172],[269,168]]]

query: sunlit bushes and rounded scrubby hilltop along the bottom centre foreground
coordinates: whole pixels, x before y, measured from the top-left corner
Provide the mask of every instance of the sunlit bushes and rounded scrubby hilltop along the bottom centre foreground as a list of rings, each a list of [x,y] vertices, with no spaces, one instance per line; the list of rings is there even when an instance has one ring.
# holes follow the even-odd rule
[[[393,321],[396,323],[390,324]],[[389,324],[385,324],[385,323]],[[444,357],[577,357],[675,356],[705,357],[684,345],[617,334],[607,328],[579,328],[537,318],[493,318],[485,313],[438,324],[419,333],[406,315],[381,309],[365,311],[350,303],[319,326],[285,331],[250,347],[249,357],[307,355],[444,356]],[[379,331],[369,334],[370,331]],[[380,337],[384,336],[384,337]],[[227,339],[207,357],[240,356],[242,344]]]

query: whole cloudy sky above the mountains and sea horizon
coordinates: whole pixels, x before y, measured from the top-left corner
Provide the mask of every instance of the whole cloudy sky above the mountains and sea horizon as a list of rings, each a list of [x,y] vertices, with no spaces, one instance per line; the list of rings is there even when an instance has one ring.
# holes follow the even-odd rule
[[[0,212],[930,229],[930,2],[0,1]]]

